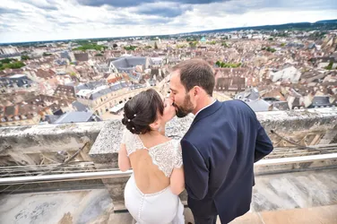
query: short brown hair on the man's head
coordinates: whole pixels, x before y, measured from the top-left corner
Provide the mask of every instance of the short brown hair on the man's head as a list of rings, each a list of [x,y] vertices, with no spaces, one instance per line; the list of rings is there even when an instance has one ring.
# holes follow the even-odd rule
[[[211,65],[202,59],[190,59],[179,63],[172,68],[172,72],[179,71],[180,82],[186,91],[194,86],[200,86],[212,96],[215,78]]]

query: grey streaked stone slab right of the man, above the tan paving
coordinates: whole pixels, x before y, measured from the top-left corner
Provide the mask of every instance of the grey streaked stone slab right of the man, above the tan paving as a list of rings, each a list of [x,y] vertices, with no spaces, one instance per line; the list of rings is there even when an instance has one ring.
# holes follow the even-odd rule
[[[255,177],[253,211],[310,208],[337,203],[337,169]]]

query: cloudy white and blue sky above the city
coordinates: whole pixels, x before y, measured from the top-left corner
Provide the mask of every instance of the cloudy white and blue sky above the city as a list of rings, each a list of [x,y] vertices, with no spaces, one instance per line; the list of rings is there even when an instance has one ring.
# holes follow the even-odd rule
[[[0,43],[337,19],[336,0],[1,0]]]

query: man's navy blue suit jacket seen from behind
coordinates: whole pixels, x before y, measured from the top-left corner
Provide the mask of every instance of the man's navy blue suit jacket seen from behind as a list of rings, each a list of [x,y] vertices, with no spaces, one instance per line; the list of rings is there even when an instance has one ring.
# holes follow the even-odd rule
[[[255,112],[241,100],[204,108],[181,140],[188,206],[228,223],[249,211],[254,163],[273,147]]]

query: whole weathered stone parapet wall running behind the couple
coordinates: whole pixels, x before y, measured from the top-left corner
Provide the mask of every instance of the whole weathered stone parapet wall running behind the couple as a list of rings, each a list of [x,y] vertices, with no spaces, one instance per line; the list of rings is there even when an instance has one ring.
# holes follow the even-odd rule
[[[256,113],[259,121],[272,138],[275,146],[287,146],[283,136],[301,145],[329,144],[336,142],[337,108],[319,108],[296,111],[271,111]],[[166,127],[168,136],[180,139],[189,128],[194,116],[174,118]],[[91,159],[95,168],[117,168],[117,151],[124,126],[120,120],[67,125],[36,125],[0,128],[0,157],[30,161],[30,154],[77,151],[83,142],[92,145],[86,160]],[[276,132],[279,136],[272,134]],[[28,156],[27,156],[28,155]],[[1,166],[1,165],[0,165]],[[102,182],[115,202],[123,203],[127,177],[106,178]],[[183,200],[186,194],[182,194]]]

